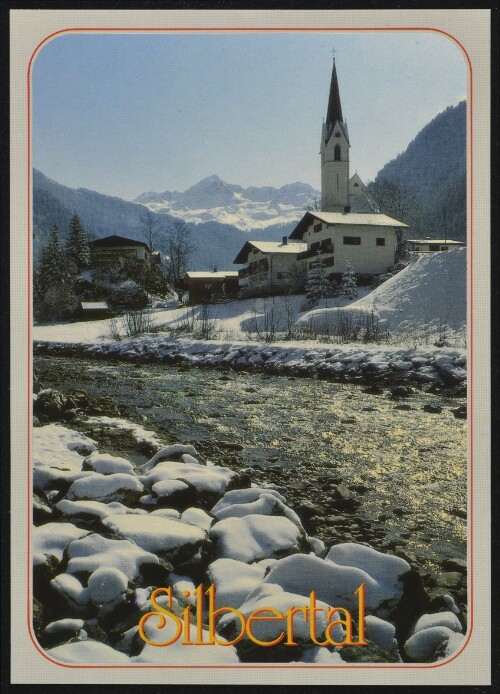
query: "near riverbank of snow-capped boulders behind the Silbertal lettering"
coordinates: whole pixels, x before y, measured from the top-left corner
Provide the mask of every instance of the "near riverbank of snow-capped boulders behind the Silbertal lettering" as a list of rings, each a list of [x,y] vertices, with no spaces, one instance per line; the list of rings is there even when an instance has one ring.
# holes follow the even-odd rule
[[[443,593],[431,600],[405,559],[354,542],[325,546],[306,532],[286,490],[256,484],[246,471],[207,465],[190,445],[162,447],[134,465],[99,451],[96,441],[74,429],[49,423],[34,430],[33,464],[34,629],[55,660],[397,664],[446,659],[465,643],[464,618],[453,597]],[[180,641],[162,648],[146,644],[138,623],[154,607],[153,588],[171,589],[170,608],[178,618],[194,605],[199,583],[215,586],[216,607],[237,609],[247,619],[264,607],[275,616],[278,611],[281,619],[256,625],[254,636],[263,641],[279,637],[286,629],[283,615],[299,608],[296,643],[264,648],[247,636],[210,649]],[[318,646],[332,606],[352,613],[354,640],[360,638],[361,584],[366,645],[336,645],[345,641],[344,622]],[[320,609],[315,628],[302,612],[312,591]],[[159,603],[165,605],[165,596]],[[237,621],[235,613],[220,618],[217,639],[235,639]],[[168,623],[174,626],[174,617]],[[160,629],[156,618],[149,619],[146,636],[165,641],[173,636],[170,626]],[[206,614],[201,633],[207,641]]]

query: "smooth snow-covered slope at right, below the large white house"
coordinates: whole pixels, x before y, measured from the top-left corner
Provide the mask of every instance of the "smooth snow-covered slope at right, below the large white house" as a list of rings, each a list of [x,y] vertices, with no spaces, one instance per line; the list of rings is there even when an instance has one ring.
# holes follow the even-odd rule
[[[339,321],[378,321],[393,340],[414,338],[417,342],[442,338],[454,344],[466,337],[467,250],[419,255],[400,273],[373,292],[343,308],[319,308],[298,320],[318,332],[336,332]]]

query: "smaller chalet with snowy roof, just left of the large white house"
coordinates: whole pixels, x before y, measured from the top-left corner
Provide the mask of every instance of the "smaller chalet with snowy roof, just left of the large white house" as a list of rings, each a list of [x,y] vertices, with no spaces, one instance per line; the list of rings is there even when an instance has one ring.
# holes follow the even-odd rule
[[[239,271],[241,288],[252,293],[297,288],[305,281],[300,276],[297,256],[305,250],[305,243],[289,243],[286,236],[281,242],[246,241],[233,261],[235,265],[245,265]]]

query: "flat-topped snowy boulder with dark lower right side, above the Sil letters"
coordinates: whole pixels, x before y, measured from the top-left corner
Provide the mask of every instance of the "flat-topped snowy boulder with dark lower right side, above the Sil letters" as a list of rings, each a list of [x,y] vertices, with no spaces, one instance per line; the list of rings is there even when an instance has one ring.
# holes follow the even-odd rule
[[[176,565],[200,561],[207,534],[200,527],[161,516],[109,516],[103,521],[109,530],[135,542]]]

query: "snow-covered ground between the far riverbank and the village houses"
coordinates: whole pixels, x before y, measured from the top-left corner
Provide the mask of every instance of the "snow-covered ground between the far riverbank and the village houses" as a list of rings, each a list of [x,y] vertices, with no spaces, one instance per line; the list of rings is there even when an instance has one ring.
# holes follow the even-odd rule
[[[359,323],[361,334],[367,323],[379,333],[388,333],[388,344],[449,346],[466,344],[466,250],[417,256],[400,273],[370,291],[362,288],[354,301],[322,300],[312,311],[305,310],[305,297],[246,299],[215,304],[207,309],[209,332],[216,341],[270,341],[292,331],[295,335],[327,333],[335,342],[339,322]],[[151,310],[151,325],[177,334],[200,330],[200,307]],[[205,323],[205,327],[206,323]],[[94,343],[110,339],[112,328],[122,335],[121,318],[75,323],[38,325],[33,339],[45,342]],[[302,335],[304,336],[304,335]],[[345,340],[344,340],[345,341]]]

